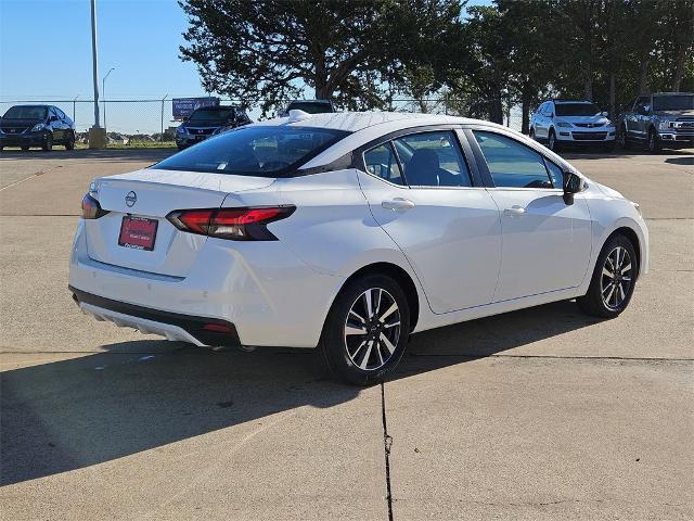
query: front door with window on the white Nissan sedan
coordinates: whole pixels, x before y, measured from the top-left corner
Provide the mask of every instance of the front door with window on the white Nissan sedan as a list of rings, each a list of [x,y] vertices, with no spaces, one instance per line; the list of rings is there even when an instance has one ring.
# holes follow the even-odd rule
[[[579,285],[592,244],[586,200],[577,194],[566,204],[561,168],[511,134],[472,135],[501,212],[502,262],[493,301]]]

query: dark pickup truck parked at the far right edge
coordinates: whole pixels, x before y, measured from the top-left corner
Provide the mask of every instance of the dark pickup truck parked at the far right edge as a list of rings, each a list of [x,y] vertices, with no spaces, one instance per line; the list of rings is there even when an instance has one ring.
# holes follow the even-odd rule
[[[694,93],[657,92],[640,96],[621,115],[617,142],[645,145],[650,152],[694,147]]]

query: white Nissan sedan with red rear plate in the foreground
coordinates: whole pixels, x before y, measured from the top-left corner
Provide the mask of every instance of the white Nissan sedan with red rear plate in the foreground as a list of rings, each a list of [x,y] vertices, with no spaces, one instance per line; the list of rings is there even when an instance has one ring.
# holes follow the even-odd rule
[[[69,288],[100,320],[318,346],[367,384],[411,332],[568,298],[616,317],[647,263],[638,204],[504,127],[292,111],[95,179]]]

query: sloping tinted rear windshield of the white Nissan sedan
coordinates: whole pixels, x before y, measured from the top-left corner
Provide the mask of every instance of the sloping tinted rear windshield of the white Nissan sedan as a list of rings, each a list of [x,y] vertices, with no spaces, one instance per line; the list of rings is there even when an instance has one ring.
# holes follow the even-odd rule
[[[348,134],[309,127],[242,127],[185,149],[153,168],[282,177]]]

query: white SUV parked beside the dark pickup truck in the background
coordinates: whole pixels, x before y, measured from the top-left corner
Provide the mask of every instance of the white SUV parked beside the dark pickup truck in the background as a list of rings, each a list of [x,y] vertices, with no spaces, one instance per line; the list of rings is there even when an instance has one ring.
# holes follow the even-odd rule
[[[615,125],[590,101],[549,100],[530,119],[530,137],[550,150],[562,144],[615,145]]]

